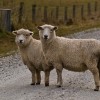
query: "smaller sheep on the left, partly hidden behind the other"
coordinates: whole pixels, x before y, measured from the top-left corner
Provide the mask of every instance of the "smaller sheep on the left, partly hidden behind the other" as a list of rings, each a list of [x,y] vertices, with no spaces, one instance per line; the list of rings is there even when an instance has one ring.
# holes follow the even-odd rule
[[[19,48],[23,63],[27,65],[32,73],[31,85],[39,85],[41,83],[40,72],[44,71],[45,86],[49,86],[49,75],[53,67],[46,66],[40,40],[34,39],[32,37],[33,32],[27,29],[22,28],[12,33],[16,35],[15,42]]]

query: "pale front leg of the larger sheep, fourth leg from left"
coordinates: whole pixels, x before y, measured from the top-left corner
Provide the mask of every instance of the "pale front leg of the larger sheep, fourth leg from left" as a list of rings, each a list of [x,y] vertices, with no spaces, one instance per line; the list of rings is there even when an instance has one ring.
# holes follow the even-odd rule
[[[57,64],[55,66],[56,68],[56,72],[57,72],[57,87],[61,87],[63,84],[63,80],[62,80],[62,65]]]

